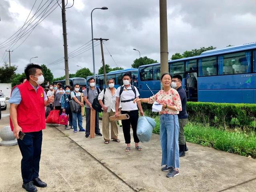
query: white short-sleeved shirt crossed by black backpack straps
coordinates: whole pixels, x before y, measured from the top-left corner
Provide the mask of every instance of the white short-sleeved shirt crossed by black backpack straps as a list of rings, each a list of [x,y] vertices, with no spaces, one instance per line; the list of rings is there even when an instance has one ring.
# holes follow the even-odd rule
[[[124,86],[124,85],[122,85]],[[136,91],[136,97],[140,96],[138,89],[136,87],[134,87],[135,91]],[[120,97],[119,93],[121,90],[121,86],[117,88],[116,90],[116,97]],[[124,90],[121,94],[120,97],[120,102],[121,101],[125,101],[125,100],[130,100],[130,99],[134,99],[135,98],[135,94],[132,90],[131,85],[126,89],[126,87],[124,86]],[[133,103],[133,101],[129,101],[129,102],[121,102],[121,106],[122,106],[122,111],[132,111],[132,110],[138,110],[138,106],[137,103]]]

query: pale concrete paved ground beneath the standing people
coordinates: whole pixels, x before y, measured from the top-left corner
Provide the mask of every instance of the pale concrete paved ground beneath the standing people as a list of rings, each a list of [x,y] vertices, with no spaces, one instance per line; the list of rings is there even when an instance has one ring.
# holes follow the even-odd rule
[[[0,128],[8,124],[8,110],[4,113]],[[125,152],[122,128],[121,143],[108,145],[100,136],[85,138],[64,126],[47,126],[43,134],[40,177],[48,187],[38,191],[256,191],[255,159],[188,143],[180,175],[166,178],[158,135],[141,144],[141,152],[134,146]],[[0,146],[0,191],[22,191],[20,159],[18,146]]]

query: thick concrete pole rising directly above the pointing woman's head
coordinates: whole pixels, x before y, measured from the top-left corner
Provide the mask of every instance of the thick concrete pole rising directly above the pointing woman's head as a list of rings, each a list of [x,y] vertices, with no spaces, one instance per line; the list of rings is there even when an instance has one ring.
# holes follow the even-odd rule
[[[160,72],[168,73],[168,33],[166,0],[159,0],[160,7]]]

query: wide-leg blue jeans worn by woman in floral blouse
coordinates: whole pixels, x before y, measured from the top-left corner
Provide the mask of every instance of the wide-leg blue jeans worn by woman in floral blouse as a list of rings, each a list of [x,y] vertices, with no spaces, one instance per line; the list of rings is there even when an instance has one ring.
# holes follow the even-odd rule
[[[180,167],[179,160],[179,122],[177,115],[160,115],[160,143],[162,147],[162,165]]]

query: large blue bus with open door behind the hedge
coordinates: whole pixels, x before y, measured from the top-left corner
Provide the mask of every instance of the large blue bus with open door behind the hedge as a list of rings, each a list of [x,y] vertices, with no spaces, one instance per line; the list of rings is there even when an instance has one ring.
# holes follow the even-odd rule
[[[168,61],[170,74],[183,78],[190,101],[256,103],[256,43],[203,52],[200,56]],[[138,68],[140,97],[160,89],[160,63]]]

